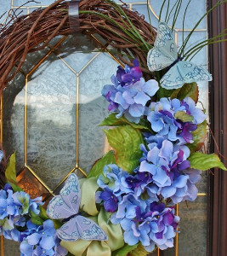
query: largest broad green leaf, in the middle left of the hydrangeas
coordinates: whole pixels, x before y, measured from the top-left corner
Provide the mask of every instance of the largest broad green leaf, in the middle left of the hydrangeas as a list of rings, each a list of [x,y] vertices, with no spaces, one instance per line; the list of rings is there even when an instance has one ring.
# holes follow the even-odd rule
[[[127,172],[133,172],[139,166],[142,152],[139,148],[144,143],[141,132],[131,125],[119,126],[113,130],[104,131],[108,142],[116,152],[116,164]]]

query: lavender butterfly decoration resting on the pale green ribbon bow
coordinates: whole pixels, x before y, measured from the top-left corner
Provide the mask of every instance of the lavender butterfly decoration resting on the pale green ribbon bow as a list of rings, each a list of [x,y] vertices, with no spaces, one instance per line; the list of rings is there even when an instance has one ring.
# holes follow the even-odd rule
[[[84,240],[99,240],[105,241],[108,239],[104,230],[90,218],[85,218],[78,215],[78,210],[81,201],[81,189],[77,175],[71,173],[65,182],[65,186],[60,190],[60,195],[48,203],[48,217],[50,218],[71,218],[60,229],[57,236],[64,241]]]

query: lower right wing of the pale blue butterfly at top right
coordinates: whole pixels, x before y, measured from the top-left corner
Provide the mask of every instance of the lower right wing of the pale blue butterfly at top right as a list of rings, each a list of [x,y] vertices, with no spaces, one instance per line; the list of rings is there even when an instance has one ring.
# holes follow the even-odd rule
[[[199,81],[211,81],[212,75],[203,67],[199,67],[189,61],[179,61],[160,80],[165,89],[178,89],[183,84]]]

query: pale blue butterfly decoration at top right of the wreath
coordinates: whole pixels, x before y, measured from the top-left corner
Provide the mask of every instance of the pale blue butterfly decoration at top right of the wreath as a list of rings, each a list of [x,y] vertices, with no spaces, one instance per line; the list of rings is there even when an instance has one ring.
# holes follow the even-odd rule
[[[168,90],[178,89],[183,84],[212,80],[212,75],[203,67],[190,61],[182,61],[173,33],[165,22],[160,22],[158,25],[154,48],[148,52],[147,66],[151,72],[170,67],[160,80],[161,86]]]

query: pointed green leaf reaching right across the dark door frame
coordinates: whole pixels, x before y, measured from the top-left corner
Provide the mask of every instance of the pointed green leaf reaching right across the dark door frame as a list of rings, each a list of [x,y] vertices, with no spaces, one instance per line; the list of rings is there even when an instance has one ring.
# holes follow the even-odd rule
[[[227,171],[224,164],[219,160],[218,154],[203,154],[201,152],[195,152],[190,154],[188,160],[190,161],[191,168],[201,171],[206,171],[214,167]]]

